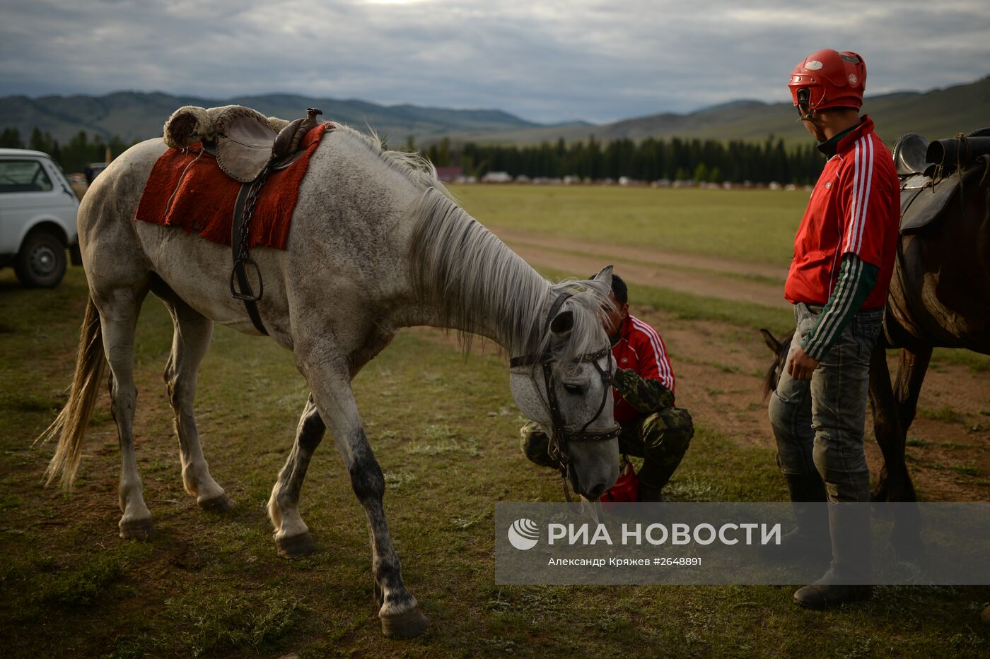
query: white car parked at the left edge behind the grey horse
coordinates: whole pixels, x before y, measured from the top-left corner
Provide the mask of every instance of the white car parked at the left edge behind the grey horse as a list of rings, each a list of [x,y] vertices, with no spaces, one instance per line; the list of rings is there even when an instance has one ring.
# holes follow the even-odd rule
[[[65,274],[66,247],[78,265],[79,200],[48,153],[0,148],[0,267],[28,288],[52,288]]]

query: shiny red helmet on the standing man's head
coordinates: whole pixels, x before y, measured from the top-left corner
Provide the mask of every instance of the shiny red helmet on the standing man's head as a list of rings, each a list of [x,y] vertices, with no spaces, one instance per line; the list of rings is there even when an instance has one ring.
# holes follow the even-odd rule
[[[859,109],[866,87],[866,62],[858,53],[825,48],[798,62],[787,86],[802,116],[826,108]]]

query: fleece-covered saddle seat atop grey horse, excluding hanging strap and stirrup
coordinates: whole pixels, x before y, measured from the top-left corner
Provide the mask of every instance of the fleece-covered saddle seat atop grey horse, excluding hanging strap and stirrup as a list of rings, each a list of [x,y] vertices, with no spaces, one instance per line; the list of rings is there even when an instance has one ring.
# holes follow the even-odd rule
[[[287,166],[295,159],[300,143],[322,114],[306,108],[306,117],[286,122],[240,105],[209,110],[186,106],[165,123],[164,140],[178,148],[199,141],[217,157],[225,174],[250,183],[265,167]]]

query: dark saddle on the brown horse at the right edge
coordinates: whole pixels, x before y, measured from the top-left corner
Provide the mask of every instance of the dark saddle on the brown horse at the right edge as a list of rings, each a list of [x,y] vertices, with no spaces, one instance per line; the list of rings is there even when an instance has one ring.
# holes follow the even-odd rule
[[[915,133],[894,145],[901,178],[901,234],[919,234],[934,226],[962,186],[990,172],[990,129],[929,142]]]

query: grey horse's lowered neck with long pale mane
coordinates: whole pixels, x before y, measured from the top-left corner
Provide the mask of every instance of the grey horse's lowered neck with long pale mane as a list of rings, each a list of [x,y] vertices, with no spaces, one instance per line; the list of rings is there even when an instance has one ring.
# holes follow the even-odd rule
[[[359,195],[349,205],[359,209],[354,222],[380,232],[380,248],[367,254],[378,270],[378,299],[388,307],[380,323],[480,334],[510,351],[529,347],[548,305],[545,278],[406,156],[378,153],[350,130],[338,132],[333,145],[326,151],[337,162],[333,180],[351,181],[344,194]]]

